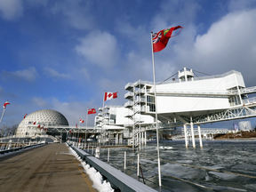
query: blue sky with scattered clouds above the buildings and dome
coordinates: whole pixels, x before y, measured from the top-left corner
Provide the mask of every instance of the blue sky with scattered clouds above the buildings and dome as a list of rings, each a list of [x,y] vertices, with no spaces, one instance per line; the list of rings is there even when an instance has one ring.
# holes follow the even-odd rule
[[[1,125],[40,109],[75,125],[102,107],[104,91],[117,92],[105,105],[123,105],[125,84],[153,82],[151,31],[178,25],[179,36],[155,53],[156,82],[186,67],[234,69],[254,86],[255,20],[256,0],[0,0],[0,103],[11,104]]]

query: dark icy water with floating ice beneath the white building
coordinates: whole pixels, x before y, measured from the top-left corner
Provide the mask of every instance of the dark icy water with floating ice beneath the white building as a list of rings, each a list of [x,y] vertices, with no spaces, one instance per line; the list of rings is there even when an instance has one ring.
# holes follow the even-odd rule
[[[125,173],[137,180],[140,153],[145,184],[157,191],[256,191],[256,140],[204,140],[203,145],[204,148],[199,148],[196,142],[196,148],[185,148],[184,140],[159,143],[161,189],[158,187],[156,143],[147,143],[134,152],[110,148],[108,164],[124,172],[125,150]],[[108,161],[108,149],[100,151],[100,158]],[[140,182],[143,182],[142,174],[140,172]]]

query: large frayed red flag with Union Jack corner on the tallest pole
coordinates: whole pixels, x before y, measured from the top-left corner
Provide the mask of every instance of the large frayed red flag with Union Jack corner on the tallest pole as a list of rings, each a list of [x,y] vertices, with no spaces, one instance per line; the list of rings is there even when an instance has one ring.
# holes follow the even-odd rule
[[[174,27],[174,28],[165,28],[164,30],[161,30],[161,31],[155,33],[152,36],[153,52],[162,51],[165,48],[165,46],[167,45],[169,39],[172,37],[172,31],[176,30],[178,28],[180,28],[180,30],[181,30],[183,27],[177,26],[177,27]],[[179,31],[179,33],[180,33],[180,31]]]

